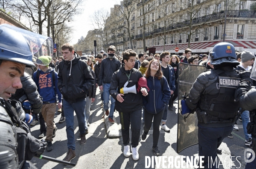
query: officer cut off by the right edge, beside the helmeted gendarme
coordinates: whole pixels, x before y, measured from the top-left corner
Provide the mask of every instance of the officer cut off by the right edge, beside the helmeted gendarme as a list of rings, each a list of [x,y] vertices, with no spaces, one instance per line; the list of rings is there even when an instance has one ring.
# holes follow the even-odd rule
[[[252,135],[253,152],[256,153],[256,88],[253,85],[253,80],[256,80],[256,64],[249,71],[244,71],[241,73],[241,83],[236,89],[235,97],[239,98],[240,107],[243,110],[250,111],[250,122],[247,124],[247,133]],[[253,80],[252,80],[253,79]],[[238,100],[237,100],[238,101]],[[243,112],[241,110],[241,112]],[[256,168],[256,158],[253,153],[248,159],[245,169],[255,169]],[[251,161],[251,162],[250,162]]]

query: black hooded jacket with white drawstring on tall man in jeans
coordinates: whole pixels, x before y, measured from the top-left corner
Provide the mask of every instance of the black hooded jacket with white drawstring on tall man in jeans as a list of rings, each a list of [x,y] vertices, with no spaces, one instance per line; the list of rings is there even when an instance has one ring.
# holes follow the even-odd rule
[[[82,70],[79,68],[79,62]],[[66,101],[70,103],[82,101],[93,83],[94,78],[90,68],[77,54],[74,54],[72,61],[60,62],[58,88]]]

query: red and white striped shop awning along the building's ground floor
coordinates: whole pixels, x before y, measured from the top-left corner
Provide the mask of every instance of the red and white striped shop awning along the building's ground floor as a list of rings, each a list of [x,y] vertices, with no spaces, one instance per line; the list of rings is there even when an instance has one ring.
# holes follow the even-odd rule
[[[192,42],[190,43],[190,49],[192,53],[204,53],[209,52],[216,44],[222,41],[212,41],[212,42]],[[235,41],[235,40],[227,40],[226,42],[231,43],[236,48],[236,51],[250,51],[256,52],[256,41]],[[173,44],[173,45],[165,45],[165,51],[170,53],[175,53],[175,48],[179,48],[178,53],[183,53],[186,48],[188,48],[188,43],[183,44]],[[162,46],[152,46],[152,48],[156,48],[156,53],[163,52],[163,45]]]

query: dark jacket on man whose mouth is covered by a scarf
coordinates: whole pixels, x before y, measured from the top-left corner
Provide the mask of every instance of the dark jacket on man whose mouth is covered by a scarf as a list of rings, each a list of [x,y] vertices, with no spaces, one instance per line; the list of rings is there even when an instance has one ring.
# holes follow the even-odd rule
[[[99,86],[102,86],[102,83],[110,83],[111,77],[114,72],[119,70],[121,63],[116,57],[110,60],[108,57],[102,60],[100,71],[99,71]]]

